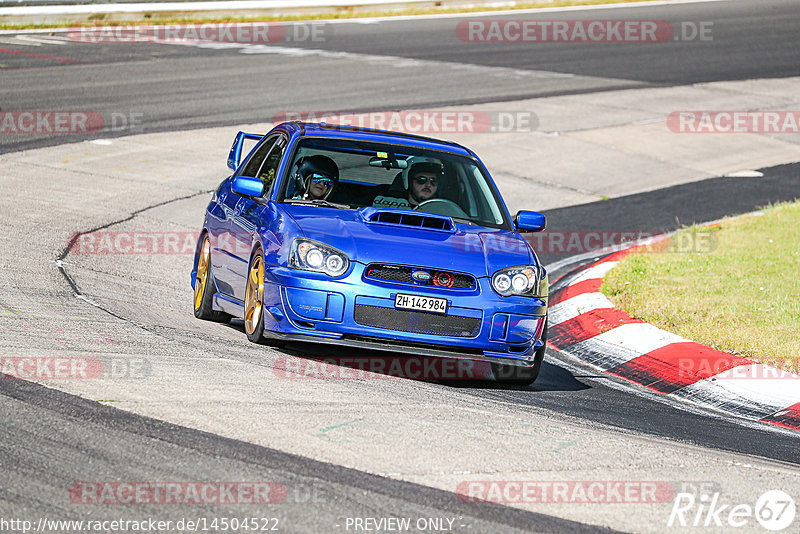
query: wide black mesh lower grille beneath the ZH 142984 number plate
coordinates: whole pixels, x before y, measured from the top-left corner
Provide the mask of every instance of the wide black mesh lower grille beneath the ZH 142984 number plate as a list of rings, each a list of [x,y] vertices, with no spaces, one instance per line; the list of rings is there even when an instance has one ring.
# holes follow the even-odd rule
[[[475,317],[436,315],[365,304],[356,304],[355,321],[375,328],[451,337],[475,337],[481,327],[481,320]]]

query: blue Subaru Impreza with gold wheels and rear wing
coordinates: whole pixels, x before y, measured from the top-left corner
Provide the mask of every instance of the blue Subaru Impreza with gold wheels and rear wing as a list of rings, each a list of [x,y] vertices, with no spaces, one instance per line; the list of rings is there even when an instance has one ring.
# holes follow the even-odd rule
[[[196,317],[243,319],[254,342],[483,360],[505,381],[536,379],[548,278],[520,233],[545,218],[512,219],[474,152],[289,122],[240,132],[228,166],[197,244]]]

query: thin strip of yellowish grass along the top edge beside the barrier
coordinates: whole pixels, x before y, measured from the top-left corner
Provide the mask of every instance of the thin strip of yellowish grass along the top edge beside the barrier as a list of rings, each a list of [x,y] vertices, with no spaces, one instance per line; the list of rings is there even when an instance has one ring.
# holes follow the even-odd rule
[[[334,12],[309,13],[309,14],[287,14],[287,15],[259,15],[255,17],[174,17],[170,14],[159,15],[158,12],[145,13],[143,16],[133,16],[124,20],[105,20],[106,15],[88,15],[84,20],[71,20],[69,22],[56,23],[26,23],[26,24],[0,24],[0,30],[31,30],[43,28],[71,28],[81,24],[120,26],[120,25],[150,25],[150,24],[211,24],[216,22],[277,22],[277,21],[299,21],[299,20],[329,20],[329,19],[350,19],[361,17],[390,17],[408,15],[432,15],[447,13],[480,13],[483,11],[498,10],[518,10],[518,9],[539,9],[544,7],[567,7],[567,6],[589,6],[602,4],[624,4],[632,2],[644,2],[646,0],[554,0],[543,2],[522,2],[514,6],[503,7],[471,7],[471,8],[409,8],[400,10],[381,10],[381,11],[360,11],[352,8],[341,8]],[[109,15],[119,16],[119,15]]]

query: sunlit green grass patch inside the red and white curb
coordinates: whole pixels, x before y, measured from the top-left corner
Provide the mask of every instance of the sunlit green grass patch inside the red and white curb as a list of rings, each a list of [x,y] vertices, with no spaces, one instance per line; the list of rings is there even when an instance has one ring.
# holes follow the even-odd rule
[[[602,291],[659,328],[800,372],[800,203],[685,229],[664,251],[626,257]]]

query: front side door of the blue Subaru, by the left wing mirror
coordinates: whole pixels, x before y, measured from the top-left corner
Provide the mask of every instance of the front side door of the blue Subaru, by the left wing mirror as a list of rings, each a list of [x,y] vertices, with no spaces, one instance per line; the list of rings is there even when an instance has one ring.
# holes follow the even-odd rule
[[[266,200],[275,183],[286,144],[287,138],[282,134],[268,139],[264,143],[265,146],[268,146],[263,150],[263,156],[259,157],[257,161],[248,162],[245,166],[243,172],[252,172],[253,174],[242,174],[261,180],[264,183],[264,193],[260,198],[236,195],[238,200],[231,218],[231,237],[235,246],[235,254],[230,258],[229,272],[232,277],[233,296],[239,300],[244,300],[250,251],[253,249],[256,232],[260,227],[269,225],[269,221],[262,219],[265,216],[269,217],[269,210],[265,209]]]

